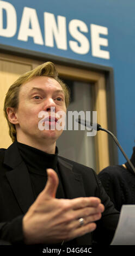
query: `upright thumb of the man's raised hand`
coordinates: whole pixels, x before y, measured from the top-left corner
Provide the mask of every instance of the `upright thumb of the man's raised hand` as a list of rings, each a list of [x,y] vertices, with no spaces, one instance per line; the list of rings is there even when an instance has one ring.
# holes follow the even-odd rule
[[[56,191],[59,184],[57,173],[53,169],[47,169],[48,180],[44,189],[44,193],[48,197],[56,197]]]

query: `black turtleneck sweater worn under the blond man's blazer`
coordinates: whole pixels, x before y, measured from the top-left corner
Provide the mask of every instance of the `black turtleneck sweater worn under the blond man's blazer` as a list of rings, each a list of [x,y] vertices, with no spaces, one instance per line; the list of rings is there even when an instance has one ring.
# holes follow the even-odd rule
[[[47,182],[46,169],[47,168],[54,169],[59,178],[59,185],[58,185],[56,197],[65,198],[65,193],[62,186],[62,177],[57,167],[58,148],[56,147],[55,154],[47,154],[44,151],[30,147],[20,142],[17,142],[17,147],[20,151],[23,161],[26,163],[26,166],[28,168],[35,199],[46,185],[46,182]]]

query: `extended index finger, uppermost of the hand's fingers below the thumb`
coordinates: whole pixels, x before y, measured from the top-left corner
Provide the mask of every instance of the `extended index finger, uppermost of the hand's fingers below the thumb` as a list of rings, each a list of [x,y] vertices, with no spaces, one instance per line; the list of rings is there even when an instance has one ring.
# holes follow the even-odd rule
[[[101,203],[100,198],[97,197],[81,197],[71,199],[70,201],[73,210],[85,208],[87,206],[97,207]]]

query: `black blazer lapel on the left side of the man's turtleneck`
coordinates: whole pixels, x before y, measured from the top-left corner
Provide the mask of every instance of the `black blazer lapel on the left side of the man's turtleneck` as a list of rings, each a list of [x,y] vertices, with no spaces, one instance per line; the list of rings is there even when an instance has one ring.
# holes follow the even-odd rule
[[[26,164],[22,161],[16,142],[5,151],[4,164],[12,168],[6,172],[7,179],[23,213],[34,202],[34,194]]]

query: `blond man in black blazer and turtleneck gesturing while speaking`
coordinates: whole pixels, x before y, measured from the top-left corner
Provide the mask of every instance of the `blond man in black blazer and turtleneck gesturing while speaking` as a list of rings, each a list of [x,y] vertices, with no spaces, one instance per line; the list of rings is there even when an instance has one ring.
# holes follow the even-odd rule
[[[62,130],[56,124],[68,104],[68,89],[51,62],[22,75],[8,90],[4,113],[14,143],[0,155],[2,240],[91,245],[94,230],[97,242],[113,238],[119,212],[95,172],[58,156]],[[48,119],[39,118],[42,111]],[[39,129],[39,121],[48,129]]]

